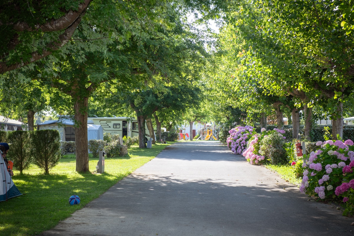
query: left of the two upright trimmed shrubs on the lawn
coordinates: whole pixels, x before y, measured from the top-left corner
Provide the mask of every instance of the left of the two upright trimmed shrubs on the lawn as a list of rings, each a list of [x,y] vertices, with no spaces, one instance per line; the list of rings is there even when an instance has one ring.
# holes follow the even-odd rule
[[[13,167],[23,174],[32,161],[30,155],[30,142],[28,131],[12,131],[8,133],[7,141],[10,143],[10,150],[7,159],[13,161]]]

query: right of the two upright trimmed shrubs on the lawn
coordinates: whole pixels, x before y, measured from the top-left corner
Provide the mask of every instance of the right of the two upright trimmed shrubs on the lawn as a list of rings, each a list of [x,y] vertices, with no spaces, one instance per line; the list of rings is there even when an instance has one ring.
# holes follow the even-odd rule
[[[55,129],[32,131],[30,144],[34,164],[43,169],[45,174],[49,174],[61,158],[59,132]]]

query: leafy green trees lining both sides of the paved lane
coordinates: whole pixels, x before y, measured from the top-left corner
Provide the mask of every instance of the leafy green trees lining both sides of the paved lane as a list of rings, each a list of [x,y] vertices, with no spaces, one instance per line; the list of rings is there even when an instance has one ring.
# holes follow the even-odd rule
[[[89,171],[92,115],[138,117],[141,148],[145,120],[159,132],[206,116],[264,126],[276,113],[281,128],[285,113],[296,136],[300,110],[306,136],[324,114],[342,136],[353,102],[352,9],[350,1],[10,1],[0,7],[0,110],[29,129],[43,109],[72,115],[79,172]],[[190,24],[192,11],[221,19],[220,34]]]

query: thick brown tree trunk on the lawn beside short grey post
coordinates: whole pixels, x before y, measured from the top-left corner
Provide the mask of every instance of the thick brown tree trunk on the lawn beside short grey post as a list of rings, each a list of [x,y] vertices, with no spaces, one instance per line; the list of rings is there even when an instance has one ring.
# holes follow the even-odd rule
[[[76,171],[89,172],[89,150],[87,148],[87,108],[89,98],[74,100]]]

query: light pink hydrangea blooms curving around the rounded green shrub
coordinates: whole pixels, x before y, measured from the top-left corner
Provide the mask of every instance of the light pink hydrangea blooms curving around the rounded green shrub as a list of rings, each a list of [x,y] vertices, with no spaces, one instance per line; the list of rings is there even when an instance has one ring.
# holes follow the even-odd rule
[[[242,155],[247,159],[247,161],[249,161],[251,164],[261,165],[269,159],[269,157],[261,155],[260,142],[264,137],[267,137],[273,133],[278,133],[279,135],[281,135],[281,137],[283,137],[282,134],[284,134],[285,131],[277,128],[267,131],[265,128],[262,128],[260,134],[255,134],[252,136],[252,138],[247,144],[247,149],[242,153]],[[286,137],[284,137],[284,139],[285,138]]]

